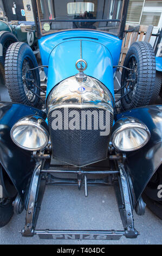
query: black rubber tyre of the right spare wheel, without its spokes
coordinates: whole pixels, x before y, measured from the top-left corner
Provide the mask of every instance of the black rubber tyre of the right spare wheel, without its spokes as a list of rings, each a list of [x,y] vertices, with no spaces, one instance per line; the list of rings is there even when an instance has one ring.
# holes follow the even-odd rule
[[[152,46],[148,42],[134,42],[129,48],[124,66],[129,67],[130,59],[135,58],[137,62],[136,84],[133,88],[132,100],[127,100],[127,96],[121,99],[123,109],[148,105],[152,99],[155,85],[155,55]],[[121,87],[126,83],[126,78],[130,71],[122,69]],[[121,90],[121,96],[125,95],[125,90]]]

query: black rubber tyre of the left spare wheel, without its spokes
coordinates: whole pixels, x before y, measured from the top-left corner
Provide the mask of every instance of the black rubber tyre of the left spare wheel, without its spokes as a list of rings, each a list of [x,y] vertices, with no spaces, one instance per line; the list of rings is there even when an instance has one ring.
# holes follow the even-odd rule
[[[37,60],[31,48],[24,42],[15,42],[8,48],[5,58],[5,84],[9,90],[12,102],[22,103],[31,107],[40,107],[41,100],[39,97],[33,96],[33,101],[28,99],[23,84],[23,64],[28,62],[29,68],[36,68]],[[35,84],[40,87],[40,73],[36,69],[33,72]],[[36,93],[40,96],[40,89],[35,88]]]

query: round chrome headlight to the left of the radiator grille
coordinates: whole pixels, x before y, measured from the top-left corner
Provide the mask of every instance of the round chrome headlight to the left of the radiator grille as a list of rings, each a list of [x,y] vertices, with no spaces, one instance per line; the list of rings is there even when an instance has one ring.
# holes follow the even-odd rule
[[[48,125],[40,117],[26,117],[12,127],[10,136],[12,141],[22,149],[41,150],[49,141]]]

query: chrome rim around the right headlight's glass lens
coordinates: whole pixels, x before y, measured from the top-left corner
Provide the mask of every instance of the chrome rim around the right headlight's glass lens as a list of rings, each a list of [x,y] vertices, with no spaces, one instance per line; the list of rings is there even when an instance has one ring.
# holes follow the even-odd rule
[[[122,152],[131,152],[131,151],[135,151],[135,150],[138,150],[138,149],[141,149],[142,147],[144,147],[148,141],[150,140],[150,137],[151,137],[151,133],[150,131],[148,130],[147,126],[142,123],[142,121],[140,121],[139,119],[137,118],[131,118],[131,117],[128,117],[129,119],[129,123],[127,124],[122,124],[121,126],[119,126],[117,129],[115,129],[112,133],[112,144],[113,144],[113,147],[117,150],[117,151],[122,151]],[[119,119],[118,121],[122,121],[122,118]],[[115,145],[115,138],[117,135],[119,135],[120,132],[122,131],[126,131],[128,129],[141,129],[141,130],[144,130],[146,133],[147,133],[147,138],[146,140],[144,141],[144,143],[140,144],[138,147],[135,147],[135,148],[132,148],[132,149],[123,149],[123,148],[120,148],[120,147],[116,147]]]

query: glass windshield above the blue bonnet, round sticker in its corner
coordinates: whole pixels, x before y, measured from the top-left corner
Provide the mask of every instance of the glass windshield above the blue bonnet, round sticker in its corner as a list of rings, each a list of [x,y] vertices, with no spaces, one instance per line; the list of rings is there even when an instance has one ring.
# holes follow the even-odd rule
[[[96,29],[119,35],[123,0],[37,0],[41,34]]]

